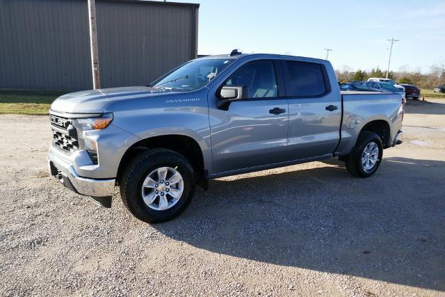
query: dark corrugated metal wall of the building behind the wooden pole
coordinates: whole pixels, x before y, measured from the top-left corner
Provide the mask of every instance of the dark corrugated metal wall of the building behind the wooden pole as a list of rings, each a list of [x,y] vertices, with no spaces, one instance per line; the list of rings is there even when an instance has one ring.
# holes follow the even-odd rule
[[[101,87],[140,86],[197,55],[198,5],[96,0]],[[0,0],[0,88],[92,88],[86,0]]]

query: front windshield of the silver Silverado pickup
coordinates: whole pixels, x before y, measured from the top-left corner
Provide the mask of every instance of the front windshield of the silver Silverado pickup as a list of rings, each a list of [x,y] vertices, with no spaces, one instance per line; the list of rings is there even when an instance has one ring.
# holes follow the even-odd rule
[[[166,88],[175,91],[191,91],[202,88],[214,79],[233,58],[207,58],[185,63],[166,77],[157,81],[154,88]]]

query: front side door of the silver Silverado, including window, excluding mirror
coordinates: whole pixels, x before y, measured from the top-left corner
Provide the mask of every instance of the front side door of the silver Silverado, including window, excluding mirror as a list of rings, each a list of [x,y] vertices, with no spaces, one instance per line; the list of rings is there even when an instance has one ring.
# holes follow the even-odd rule
[[[251,168],[286,159],[287,99],[279,97],[275,63],[244,63],[209,92],[213,172]],[[216,93],[223,86],[243,86],[243,99],[218,109]],[[281,90],[283,91],[283,90]],[[284,93],[284,92],[283,92]]]

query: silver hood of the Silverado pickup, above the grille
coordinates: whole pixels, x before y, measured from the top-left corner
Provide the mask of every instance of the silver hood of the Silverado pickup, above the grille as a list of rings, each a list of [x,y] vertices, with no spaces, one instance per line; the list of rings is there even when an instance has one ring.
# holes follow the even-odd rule
[[[65,113],[102,113],[106,106],[116,101],[152,97],[166,93],[176,92],[143,86],[85,90],[58,97],[51,104],[51,110]]]

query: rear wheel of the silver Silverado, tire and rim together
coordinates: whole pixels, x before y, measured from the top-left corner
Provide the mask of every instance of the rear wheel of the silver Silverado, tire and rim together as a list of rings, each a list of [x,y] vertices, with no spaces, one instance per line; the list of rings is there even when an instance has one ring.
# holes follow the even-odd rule
[[[383,145],[380,137],[371,131],[362,131],[353,151],[346,157],[346,170],[355,177],[370,177],[380,166]]]

